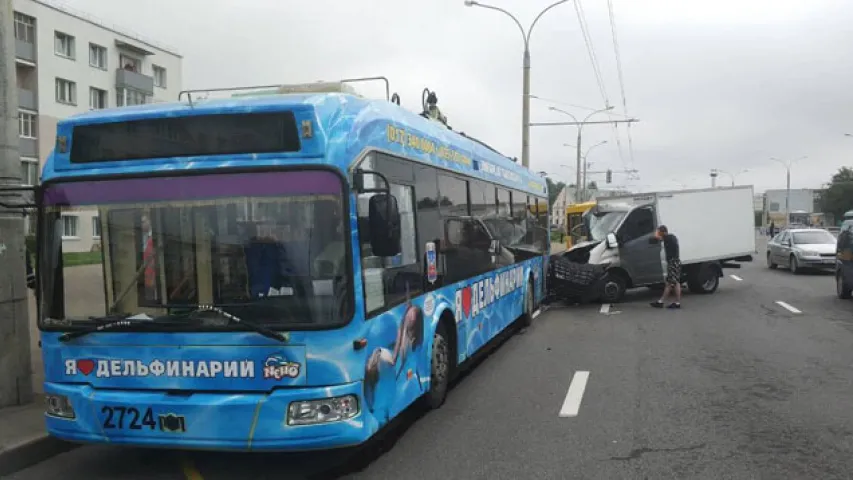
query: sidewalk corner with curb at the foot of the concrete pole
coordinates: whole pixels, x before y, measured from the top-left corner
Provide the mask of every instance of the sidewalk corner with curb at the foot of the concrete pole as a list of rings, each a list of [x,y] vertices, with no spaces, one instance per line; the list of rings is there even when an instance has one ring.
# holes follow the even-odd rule
[[[41,395],[29,405],[0,408],[0,477],[74,447],[47,435]]]

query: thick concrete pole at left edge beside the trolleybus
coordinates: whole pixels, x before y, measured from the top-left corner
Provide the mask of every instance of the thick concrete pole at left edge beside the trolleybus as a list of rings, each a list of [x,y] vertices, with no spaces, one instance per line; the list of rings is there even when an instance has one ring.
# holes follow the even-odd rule
[[[21,185],[18,153],[18,90],[12,0],[0,9],[0,187]],[[0,194],[18,203],[20,192]],[[30,328],[24,265],[24,219],[20,210],[0,206],[0,407],[32,400]]]

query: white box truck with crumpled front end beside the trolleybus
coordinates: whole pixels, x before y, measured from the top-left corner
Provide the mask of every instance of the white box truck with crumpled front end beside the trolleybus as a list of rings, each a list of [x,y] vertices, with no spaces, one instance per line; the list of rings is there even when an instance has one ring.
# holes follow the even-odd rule
[[[628,289],[663,287],[663,246],[650,242],[659,225],[678,237],[690,292],[714,293],[723,268],[740,268],[733,262],[752,261],[755,253],[752,187],[598,199],[584,215],[588,240],[551,259],[552,300],[615,303]]]

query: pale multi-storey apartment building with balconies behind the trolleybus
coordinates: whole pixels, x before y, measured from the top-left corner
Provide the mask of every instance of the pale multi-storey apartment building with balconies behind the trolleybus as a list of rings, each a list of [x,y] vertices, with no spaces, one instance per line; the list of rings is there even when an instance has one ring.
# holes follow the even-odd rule
[[[14,0],[21,177],[39,181],[56,124],[93,109],[175,101],[183,58],[173,49],[49,0]],[[90,251],[96,211],[63,217],[63,249]],[[32,228],[32,226],[28,226]]]

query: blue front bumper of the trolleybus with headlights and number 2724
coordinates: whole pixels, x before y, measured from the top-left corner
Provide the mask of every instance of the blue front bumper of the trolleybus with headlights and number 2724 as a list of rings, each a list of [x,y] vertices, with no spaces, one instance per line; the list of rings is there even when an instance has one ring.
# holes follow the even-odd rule
[[[48,433],[73,442],[210,450],[327,449],[357,445],[378,430],[373,415],[363,411],[362,391],[362,382],[267,393],[103,390],[46,383],[45,417]]]

